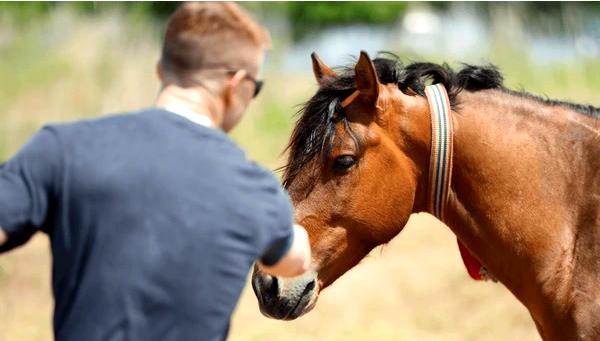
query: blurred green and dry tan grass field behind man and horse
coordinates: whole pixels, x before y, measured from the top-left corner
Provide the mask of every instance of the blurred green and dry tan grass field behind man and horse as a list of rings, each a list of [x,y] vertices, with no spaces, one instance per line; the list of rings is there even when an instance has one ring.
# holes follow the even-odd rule
[[[0,159],[9,158],[48,122],[152,106],[159,87],[153,70],[162,23],[132,20],[120,12],[80,17],[62,7],[31,25],[0,16],[4,34]],[[599,104],[598,60],[536,66],[513,51],[491,61],[503,69],[511,87]],[[279,155],[293,125],[294,106],[314,92],[315,84],[310,75],[275,71],[265,78],[265,93],[252,104],[233,138],[250,158],[273,169],[282,163]],[[52,338],[49,283],[45,236],[0,257],[0,341]],[[453,235],[428,215],[414,216],[401,236],[374,250],[299,320],[262,317],[247,286],[230,336],[232,340],[538,339],[527,311],[505,288],[469,279]]]

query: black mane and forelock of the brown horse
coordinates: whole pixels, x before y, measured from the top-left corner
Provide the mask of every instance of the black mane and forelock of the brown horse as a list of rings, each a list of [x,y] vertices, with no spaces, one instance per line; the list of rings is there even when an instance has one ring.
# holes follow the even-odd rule
[[[404,65],[400,59],[391,53],[380,53],[373,59],[379,82],[396,84],[406,93],[411,89],[420,96],[425,96],[425,86],[429,83],[441,83],[448,92],[450,105],[456,109],[457,95],[462,90],[479,91],[499,89],[507,93],[531,98],[547,105],[562,105],[590,116],[600,117],[600,108],[591,105],[581,105],[544,99],[527,92],[509,90],[503,86],[503,77],[494,65],[475,66],[463,64],[455,72],[447,64],[412,63]],[[342,67],[336,69],[337,77],[327,79],[321,84],[317,93],[304,103],[298,114],[300,117],[292,132],[289,151],[289,162],[282,167],[283,184],[287,188],[300,169],[318,155],[326,156],[335,141],[335,123],[343,121],[356,143],[358,137],[352,133],[348,121],[340,106],[340,101],[356,90],[354,83],[354,68]],[[337,113],[337,116],[335,115]],[[325,151],[325,153],[323,153]]]

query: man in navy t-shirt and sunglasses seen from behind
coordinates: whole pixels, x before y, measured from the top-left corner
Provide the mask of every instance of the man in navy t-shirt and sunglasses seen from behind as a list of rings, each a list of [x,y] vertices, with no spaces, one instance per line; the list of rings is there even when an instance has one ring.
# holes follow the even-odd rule
[[[224,339],[256,259],[306,270],[287,195],[224,133],[268,39],[235,4],[185,4],[156,108],[45,127],[0,168],[0,252],[50,236],[57,340]]]

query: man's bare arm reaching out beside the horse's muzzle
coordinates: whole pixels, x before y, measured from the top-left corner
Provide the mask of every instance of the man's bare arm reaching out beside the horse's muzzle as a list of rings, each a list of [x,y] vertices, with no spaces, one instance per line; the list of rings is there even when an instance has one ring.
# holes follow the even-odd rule
[[[260,270],[273,276],[294,277],[302,275],[310,266],[310,244],[306,230],[294,225],[293,240],[285,255],[273,265],[264,265],[258,261]]]

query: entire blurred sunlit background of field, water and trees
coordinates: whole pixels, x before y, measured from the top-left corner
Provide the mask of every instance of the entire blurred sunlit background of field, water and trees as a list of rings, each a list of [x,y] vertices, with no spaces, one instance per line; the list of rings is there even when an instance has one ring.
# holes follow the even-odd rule
[[[597,2],[242,6],[270,29],[273,47],[262,73],[265,91],[233,137],[271,169],[283,162],[298,105],[316,90],[312,51],[331,66],[352,63],[361,49],[372,56],[391,51],[407,63],[493,63],[509,87],[600,105]],[[174,7],[0,3],[0,160],[46,123],[152,106],[161,32]],[[43,235],[0,256],[0,340],[52,339],[50,264]],[[413,217],[400,236],[374,250],[296,321],[262,317],[247,286],[230,337],[539,339],[525,308],[502,285],[469,279],[451,232],[425,214]]]

